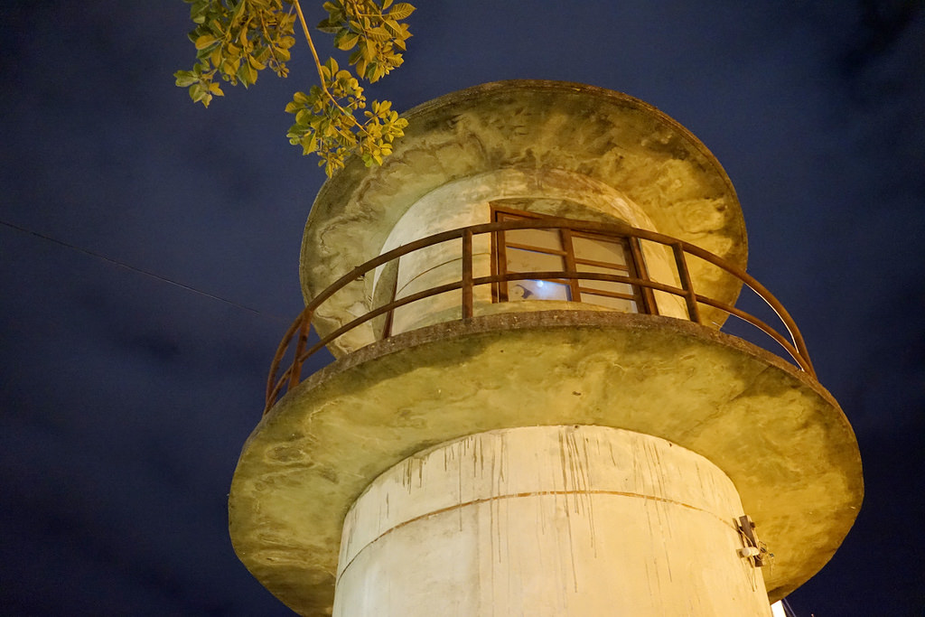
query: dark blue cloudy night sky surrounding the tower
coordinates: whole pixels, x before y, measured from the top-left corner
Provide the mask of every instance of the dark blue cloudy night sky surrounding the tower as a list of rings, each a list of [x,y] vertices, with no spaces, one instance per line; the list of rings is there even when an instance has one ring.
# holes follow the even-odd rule
[[[795,317],[865,467],[857,524],[791,606],[925,614],[925,6],[415,4],[406,62],[371,98],[585,82],[717,156],[748,270]],[[179,0],[5,3],[2,614],[290,614],[235,557],[226,500],[302,306],[324,173],[283,107],[315,77],[297,43],[290,79],[203,109],[173,85],[190,29]]]

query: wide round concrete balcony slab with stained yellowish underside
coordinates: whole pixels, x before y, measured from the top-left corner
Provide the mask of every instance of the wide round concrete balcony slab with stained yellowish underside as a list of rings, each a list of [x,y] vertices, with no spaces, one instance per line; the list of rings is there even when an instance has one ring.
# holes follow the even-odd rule
[[[279,401],[234,476],[235,549],[291,608],[327,614],[344,516],[376,476],[467,435],[554,425],[623,428],[709,459],[774,554],[772,601],[829,561],[862,500],[844,414],[777,356],[669,317],[509,313],[377,342]]]

